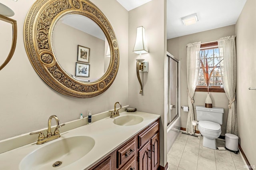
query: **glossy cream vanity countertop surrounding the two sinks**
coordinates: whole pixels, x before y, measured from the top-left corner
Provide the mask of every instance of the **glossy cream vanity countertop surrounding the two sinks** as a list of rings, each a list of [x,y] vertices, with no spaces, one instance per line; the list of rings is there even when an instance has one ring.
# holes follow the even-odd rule
[[[55,142],[57,140],[61,140],[63,138],[68,138],[71,136],[90,136],[95,140],[95,145],[88,154],[86,154],[84,157],[77,160],[76,162],[69,164],[68,166],[65,166],[63,168],[61,166],[55,168],[50,167],[49,170],[88,169],[96,164],[98,161],[100,161],[102,158],[113,152],[116,148],[124,144],[127,140],[136,135],[142,129],[146,128],[152,122],[160,118],[160,115],[138,111],[132,113],[122,112],[118,117],[122,117],[125,115],[138,115],[143,117],[144,120],[137,125],[119,126],[113,123],[115,118],[108,117],[106,119],[93,122],[91,125],[84,125],[82,127],[78,127],[63,133],[61,132],[60,128],[61,137],[56,140],[41,145],[36,145],[36,142],[34,142],[0,154],[0,170],[21,170],[20,162],[26,155],[30,154],[34,150],[47,146],[51,142]]]

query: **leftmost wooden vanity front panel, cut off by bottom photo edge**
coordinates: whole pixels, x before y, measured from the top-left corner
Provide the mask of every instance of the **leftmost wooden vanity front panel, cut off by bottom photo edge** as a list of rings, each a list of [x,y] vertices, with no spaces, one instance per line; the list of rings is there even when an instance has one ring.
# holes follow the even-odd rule
[[[114,170],[114,154],[110,154],[90,170]]]

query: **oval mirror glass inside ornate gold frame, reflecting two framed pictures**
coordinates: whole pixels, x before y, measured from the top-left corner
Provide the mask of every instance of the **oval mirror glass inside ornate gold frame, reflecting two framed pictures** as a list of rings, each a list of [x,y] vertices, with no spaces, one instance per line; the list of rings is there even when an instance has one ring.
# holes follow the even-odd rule
[[[52,47],[58,63],[74,79],[94,82],[109,67],[109,44],[104,32],[80,14],[63,16],[54,26]]]

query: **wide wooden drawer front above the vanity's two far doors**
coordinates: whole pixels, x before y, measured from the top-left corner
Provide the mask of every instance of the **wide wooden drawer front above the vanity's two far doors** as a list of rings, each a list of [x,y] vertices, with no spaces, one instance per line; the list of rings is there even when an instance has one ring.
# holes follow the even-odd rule
[[[138,134],[138,148],[143,146],[148,140],[159,131],[159,120],[149,125],[142,133]]]

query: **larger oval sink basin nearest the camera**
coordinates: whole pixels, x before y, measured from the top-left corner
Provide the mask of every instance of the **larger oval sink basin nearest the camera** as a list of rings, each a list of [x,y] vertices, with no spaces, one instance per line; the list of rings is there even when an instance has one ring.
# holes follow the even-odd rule
[[[56,142],[42,144],[39,149],[25,156],[20,162],[21,170],[56,170],[72,164],[94,147],[90,136],[72,136]]]

